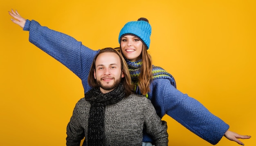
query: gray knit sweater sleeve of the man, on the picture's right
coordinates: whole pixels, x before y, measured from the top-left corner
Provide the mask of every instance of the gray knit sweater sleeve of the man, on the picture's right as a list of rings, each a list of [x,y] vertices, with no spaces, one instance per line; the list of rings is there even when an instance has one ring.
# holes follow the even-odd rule
[[[155,146],[168,146],[167,124],[155,112],[155,108],[147,98],[144,103],[146,132],[153,137]]]

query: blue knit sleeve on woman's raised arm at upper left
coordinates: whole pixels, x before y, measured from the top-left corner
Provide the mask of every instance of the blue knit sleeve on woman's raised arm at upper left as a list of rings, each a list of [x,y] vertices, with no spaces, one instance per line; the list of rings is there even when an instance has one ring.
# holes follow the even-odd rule
[[[79,78],[87,77],[92,60],[98,51],[84,46],[69,35],[42,27],[35,20],[26,20],[24,31],[29,31],[29,42],[64,64]]]

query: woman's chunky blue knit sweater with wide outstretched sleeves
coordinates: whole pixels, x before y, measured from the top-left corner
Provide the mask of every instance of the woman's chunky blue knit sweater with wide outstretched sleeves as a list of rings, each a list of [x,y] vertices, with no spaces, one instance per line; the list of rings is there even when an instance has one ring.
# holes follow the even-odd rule
[[[61,62],[82,81],[84,92],[90,90],[88,74],[92,60],[98,51],[84,46],[69,35],[42,27],[35,20],[27,20],[24,31],[29,31],[29,41]],[[191,132],[211,144],[217,144],[229,125],[210,113],[200,102],[171,85],[168,79],[154,79],[150,84],[148,99],[157,115],[171,116]],[[144,135],[144,142],[150,137]]]

